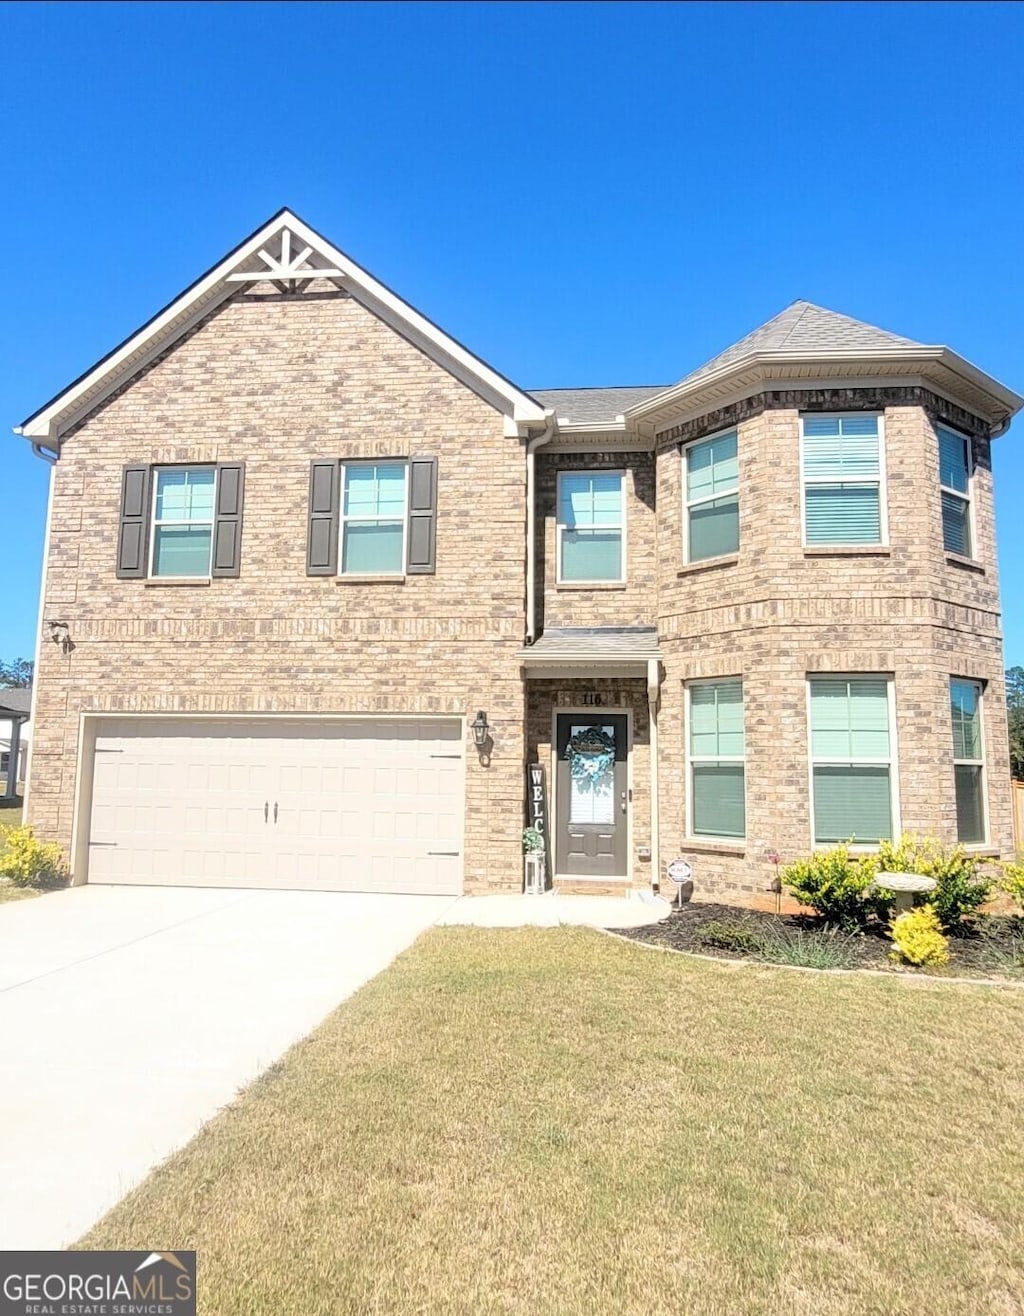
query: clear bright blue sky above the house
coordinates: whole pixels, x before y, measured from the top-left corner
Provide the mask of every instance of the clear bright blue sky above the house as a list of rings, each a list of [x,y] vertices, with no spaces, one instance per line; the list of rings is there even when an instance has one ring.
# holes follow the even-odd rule
[[[674,380],[807,297],[1024,391],[1024,5],[0,4],[3,438],[280,205],[524,387]],[[995,445],[1024,663],[1024,418]]]

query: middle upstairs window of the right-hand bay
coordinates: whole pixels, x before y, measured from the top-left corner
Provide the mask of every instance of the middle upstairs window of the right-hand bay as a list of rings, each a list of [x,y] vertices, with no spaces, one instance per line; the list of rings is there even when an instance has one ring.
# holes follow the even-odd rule
[[[804,544],[883,544],[878,416],[803,416]]]

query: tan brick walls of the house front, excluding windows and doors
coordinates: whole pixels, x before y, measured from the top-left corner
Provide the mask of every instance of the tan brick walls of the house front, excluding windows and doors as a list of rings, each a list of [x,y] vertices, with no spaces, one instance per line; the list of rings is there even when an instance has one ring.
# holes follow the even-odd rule
[[[890,546],[802,546],[800,409],[884,416]],[[975,558],[942,549],[936,420],[977,434]],[[737,425],[741,542],[683,566],[679,443]],[[661,861],[694,859],[698,895],[750,899],[811,844],[807,675],[895,680],[899,812],[956,838],[950,675],[986,683],[991,849],[1011,841],[999,588],[988,441],[975,417],[921,388],[762,393],[663,434],[650,453],[537,459],[538,604],[546,626],[657,625]],[[305,574],[313,458],[440,461],[436,575],[353,583]],[[237,579],[167,584],[115,575],[126,463],[243,461]],[[623,587],[558,586],[559,470],[624,470]],[[325,287],[233,297],[64,437],[54,471],[29,819],[71,849],[87,712],[448,713],[487,711],[490,763],[467,734],[465,880],[517,890],[524,766],[550,763],[553,711],[600,697],[632,713],[630,880],[652,882],[645,679],[526,680],[524,442],[503,416],[355,299]],[[686,837],[684,683],[742,676],[748,838]]]

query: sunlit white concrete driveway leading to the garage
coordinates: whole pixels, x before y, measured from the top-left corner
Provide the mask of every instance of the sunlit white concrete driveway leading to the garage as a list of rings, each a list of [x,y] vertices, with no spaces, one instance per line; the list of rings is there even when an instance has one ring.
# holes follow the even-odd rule
[[[86,886],[0,905],[0,1248],[76,1240],[453,904]]]

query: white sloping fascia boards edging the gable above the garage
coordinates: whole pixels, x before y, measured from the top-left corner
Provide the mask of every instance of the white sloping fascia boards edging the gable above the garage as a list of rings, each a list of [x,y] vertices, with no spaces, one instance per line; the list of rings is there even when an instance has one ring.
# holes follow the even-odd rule
[[[143,368],[153,357],[166,351],[175,338],[186,333],[197,320],[232,296],[236,284],[228,282],[228,276],[257,255],[259,249],[282,229],[290,229],[316,253],[326,257],[334,268],[342,271],[349,291],[359,301],[499,411],[511,415],[517,424],[544,424],[545,411],[540,403],[474,357],[291,211],[283,211],[111,355],[29,417],[16,433],[33,440],[50,438],[54,430],[59,433],[68,422],[74,424],[82,413],[96,407],[124,382],[126,375]],[[267,279],[272,279],[272,275],[267,274]]]

